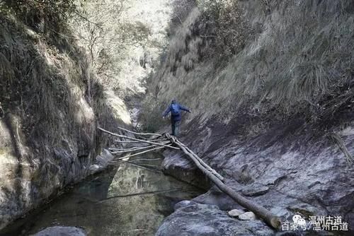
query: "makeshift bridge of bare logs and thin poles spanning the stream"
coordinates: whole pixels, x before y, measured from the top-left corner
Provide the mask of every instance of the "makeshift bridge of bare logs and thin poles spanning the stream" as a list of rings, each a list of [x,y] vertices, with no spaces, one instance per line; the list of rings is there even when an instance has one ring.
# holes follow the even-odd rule
[[[148,153],[151,151],[161,150],[163,148],[170,148],[174,150],[180,150],[185,153],[185,155],[193,160],[193,163],[217,186],[222,192],[230,196],[236,203],[243,206],[255,213],[256,216],[263,219],[265,223],[270,225],[275,230],[280,230],[280,218],[271,213],[268,209],[259,205],[258,203],[247,199],[242,196],[238,192],[234,191],[231,187],[228,187],[224,184],[224,177],[220,175],[216,170],[212,169],[207,163],[205,163],[201,158],[198,157],[195,153],[193,153],[190,148],[185,146],[181,141],[178,140],[175,136],[171,136],[170,134],[152,134],[152,133],[137,133],[134,131],[130,131],[124,129],[122,127],[117,127],[123,132],[127,132],[129,134],[133,134],[134,136],[127,136],[122,134],[115,134],[108,130],[105,130],[101,127],[98,127],[99,130],[103,131],[106,134],[110,134],[111,136],[118,137],[116,143],[145,143],[147,146],[137,146],[134,148],[109,148],[108,150],[113,155],[118,155],[116,158],[113,158],[112,163],[122,162],[128,158],[131,158],[135,155],[141,155],[144,153]],[[128,155],[122,154],[128,153]],[[124,162],[124,161],[123,161]]]

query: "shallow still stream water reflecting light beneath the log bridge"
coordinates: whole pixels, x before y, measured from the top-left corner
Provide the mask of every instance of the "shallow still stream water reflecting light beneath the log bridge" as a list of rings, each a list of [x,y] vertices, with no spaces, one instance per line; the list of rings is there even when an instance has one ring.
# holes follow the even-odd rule
[[[130,161],[157,169],[161,156]],[[77,184],[0,235],[30,235],[55,225],[81,227],[88,235],[154,235],[176,202],[201,193],[161,172],[121,163]]]

